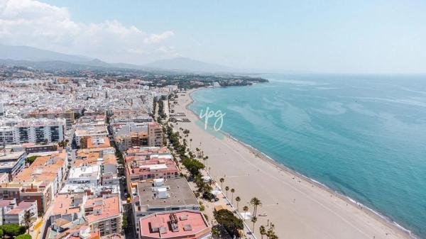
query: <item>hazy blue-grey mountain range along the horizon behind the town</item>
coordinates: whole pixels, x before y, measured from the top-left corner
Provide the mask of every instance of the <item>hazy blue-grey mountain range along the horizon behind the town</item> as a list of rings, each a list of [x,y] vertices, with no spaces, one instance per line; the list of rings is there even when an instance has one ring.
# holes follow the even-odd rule
[[[157,60],[146,65],[108,63],[102,60],[67,55],[28,46],[0,45],[0,64],[33,67],[43,70],[84,70],[93,68],[127,68],[132,70],[171,70],[184,72],[232,72],[230,67],[210,64],[187,57]]]

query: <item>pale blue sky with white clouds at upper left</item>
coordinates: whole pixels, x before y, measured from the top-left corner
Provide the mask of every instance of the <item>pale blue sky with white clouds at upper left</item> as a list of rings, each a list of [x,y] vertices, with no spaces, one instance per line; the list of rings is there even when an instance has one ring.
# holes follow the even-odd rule
[[[0,0],[0,43],[138,65],[426,73],[426,1]]]

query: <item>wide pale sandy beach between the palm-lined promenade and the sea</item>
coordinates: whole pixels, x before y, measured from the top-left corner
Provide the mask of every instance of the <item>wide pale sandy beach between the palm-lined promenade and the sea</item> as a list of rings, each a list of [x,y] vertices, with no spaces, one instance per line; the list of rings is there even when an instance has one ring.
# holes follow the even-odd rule
[[[258,208],[258,213],[267,213],[268,216],[258,216],[255,225],[257,238],[261,238],[259,226],[266,226],[268,219],[282,239],[410,238],[407,232],[393,223],[271,162],[260,152],[230,137],[217,138],[207,133],[195,124],[198,116],[187,109],[192,103],[192,91],[179,93],[178,105],[172,107],[175,112],[185,113],[185,118],[191,122],[173,123],[173,127],[190,130],[192,150],[201,148],[204,155],[209,156],[207,168],[211,167],[214,179],[219,182],[219,178],[224,177],[224,187],[235,189],[234,198],[241,197],[240,211],[243,206],[249,206],[249,211],[253,212],[249,205],[253,196],[261,200],[263,205]],[[253,226],[250,221],[246,223]]]

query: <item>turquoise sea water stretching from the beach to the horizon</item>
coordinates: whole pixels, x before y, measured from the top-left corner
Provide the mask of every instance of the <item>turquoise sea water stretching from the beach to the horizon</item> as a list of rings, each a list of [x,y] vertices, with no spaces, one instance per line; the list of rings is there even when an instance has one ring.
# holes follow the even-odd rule
[[[426,238],[426,76],[262,77],[195,91],[190,109],[221,110],[222,130]]]

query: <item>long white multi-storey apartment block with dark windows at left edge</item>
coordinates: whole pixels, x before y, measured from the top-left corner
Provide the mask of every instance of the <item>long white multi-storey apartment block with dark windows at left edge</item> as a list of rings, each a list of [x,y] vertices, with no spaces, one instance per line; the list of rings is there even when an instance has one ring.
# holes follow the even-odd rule
[[[65,119],[9,118],[0,120],[0,145],[51,143],[64,140]]]

